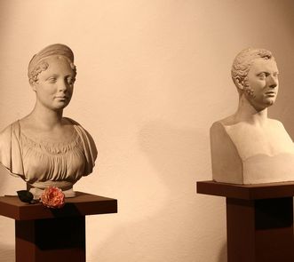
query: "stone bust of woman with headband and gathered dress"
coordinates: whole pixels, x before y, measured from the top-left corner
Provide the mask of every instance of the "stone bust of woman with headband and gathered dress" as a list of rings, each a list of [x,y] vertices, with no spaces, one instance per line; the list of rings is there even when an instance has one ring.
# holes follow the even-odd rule
[[[24,179],[35,198],[49,186],[75,196],[73,185],[95,164],[97,149],[91,135],[63,116],[75,75],[74,53],[68,46],[52,44],[36,53],[28,65],[35,107],[0,133],[0,163]]]

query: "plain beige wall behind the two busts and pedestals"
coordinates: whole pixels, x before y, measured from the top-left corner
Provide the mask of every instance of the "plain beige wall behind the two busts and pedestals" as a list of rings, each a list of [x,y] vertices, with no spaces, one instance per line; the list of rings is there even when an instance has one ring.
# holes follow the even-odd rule
[[[0,0],[0,128],[29,113],[31,56],[68,44],[78,69],[65,115],[91,132],[98,168],[75,187],[115,197],[118,214],[87,218],[89,262],[225,262],[225,199],[196,195],[211,179],[209,128],[234,113],[236,52],[274,52],[281,91],[271,115],[294,137],[289,0]],[[0,195],[23,188],[1,171]],[[13,221],[0,218],[0,262]]]

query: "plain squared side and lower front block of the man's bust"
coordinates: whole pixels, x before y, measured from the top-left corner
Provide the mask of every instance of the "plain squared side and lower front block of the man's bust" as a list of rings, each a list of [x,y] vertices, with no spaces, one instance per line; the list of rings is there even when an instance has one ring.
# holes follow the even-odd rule
[[[221,123],[211,127],[211,165],[212,179],[217,182],[246,185],[294,181],[294,154],[258,154],[242,159]]]

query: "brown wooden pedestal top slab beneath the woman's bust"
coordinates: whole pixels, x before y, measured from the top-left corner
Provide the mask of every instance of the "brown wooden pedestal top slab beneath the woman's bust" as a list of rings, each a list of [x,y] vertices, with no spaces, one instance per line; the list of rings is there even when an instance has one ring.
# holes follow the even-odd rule
[[[16,220],[32,220],[117,212],[116,199],[83,192],[75,193],[75,197],[66,198],[66,204],[61,209],[49,209],[42,203],[21,202],[18,196],[0,196],[0,215]]]

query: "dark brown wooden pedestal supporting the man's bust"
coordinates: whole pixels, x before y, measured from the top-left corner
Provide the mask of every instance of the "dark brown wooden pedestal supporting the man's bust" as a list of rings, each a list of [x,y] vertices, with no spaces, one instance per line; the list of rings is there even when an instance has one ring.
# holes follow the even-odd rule
[[[197,193],[226,197],[228,262],[294,261],[294,183],[201,181]]]

